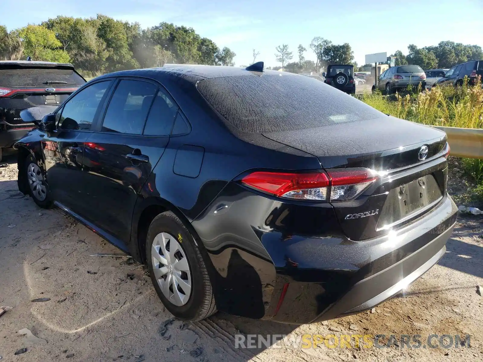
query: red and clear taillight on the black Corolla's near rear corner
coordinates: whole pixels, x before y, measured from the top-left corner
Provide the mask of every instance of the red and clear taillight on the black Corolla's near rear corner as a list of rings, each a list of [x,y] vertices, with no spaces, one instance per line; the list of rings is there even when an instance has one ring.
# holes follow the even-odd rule
[[[245,186],[277,197],[308,201],[348,201],[360,195],[377,174],[368,168],[291,173],[256,171],[241,179]],[[330,195],[329,195],[330,189]]]

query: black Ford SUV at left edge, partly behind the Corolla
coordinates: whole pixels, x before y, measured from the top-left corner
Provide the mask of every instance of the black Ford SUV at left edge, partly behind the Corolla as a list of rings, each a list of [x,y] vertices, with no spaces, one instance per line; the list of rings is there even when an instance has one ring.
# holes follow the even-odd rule
[[[11,147],[33,124],[20,111],[41,105],[59,105],[85,79],[71,64],[29,60],[0,61],[0,161],[2,148]]]

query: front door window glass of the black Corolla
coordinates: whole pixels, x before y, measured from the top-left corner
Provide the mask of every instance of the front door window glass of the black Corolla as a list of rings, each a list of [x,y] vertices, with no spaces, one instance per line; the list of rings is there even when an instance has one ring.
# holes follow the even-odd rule
[[[69,99],[61,111],[58,128],[90,130],[100,101],[111,81],[89,85]]]

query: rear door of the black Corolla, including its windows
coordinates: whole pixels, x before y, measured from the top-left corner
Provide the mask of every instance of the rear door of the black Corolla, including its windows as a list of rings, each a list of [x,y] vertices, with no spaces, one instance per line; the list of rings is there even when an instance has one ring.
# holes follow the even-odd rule
[[[85,192],[91,210],[86,218],[117,238],[121,248],[129,241],[138,194],[164,153],[177,111],[160,84],[121,78],[85,143]]]

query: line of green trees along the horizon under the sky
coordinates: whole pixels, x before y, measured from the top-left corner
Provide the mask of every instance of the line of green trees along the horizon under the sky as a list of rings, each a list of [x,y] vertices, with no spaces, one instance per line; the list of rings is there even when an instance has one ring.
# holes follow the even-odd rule
[[[334,44],[314,37],[308,48],[315,61],[306,59],[307,48],[297,48],[297,60],[287,44],[276,47],[276,60],[294,73],[327,68],[328,64],[353,64],[354,52],[349,43]],[[423,69],[451,68],[472,59],[482,59],[479,45],[444,41],[435,46],[408,46],[405,56],[398,50],[396,65],[415,64]],[[253,62],[260,52],[253,49]],[[133,68],[159,67],[165,63],[234,66],[236,54],[227,47],[220,49],[211,39],[202,38],[193,28],[166,22],[151,28],[98,14],[92,18],[57,16],[40,25],[28,25],[10,32],[0,25],[0,60],[25,59],[72,63],[85,76]],[[268,67],[270,68],[270,67]]]

